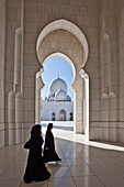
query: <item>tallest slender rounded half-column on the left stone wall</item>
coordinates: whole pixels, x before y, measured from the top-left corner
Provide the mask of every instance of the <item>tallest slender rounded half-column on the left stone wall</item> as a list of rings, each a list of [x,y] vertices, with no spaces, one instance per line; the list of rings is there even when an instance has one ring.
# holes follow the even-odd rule
[[[22,30],[18,28],[15,31],[14,44],[14,90],[15,95],[15,143],[22,142],[22,95],[21,95],[21,53],[22,53]]]

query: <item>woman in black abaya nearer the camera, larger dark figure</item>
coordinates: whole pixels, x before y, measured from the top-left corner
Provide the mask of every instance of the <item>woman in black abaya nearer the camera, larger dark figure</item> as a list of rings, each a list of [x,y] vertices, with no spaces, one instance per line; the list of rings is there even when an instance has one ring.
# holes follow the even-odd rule
[[[30,150],[23,177],[26,184],[33,180],[44,182],[50,177],[50,173],[47,170],[42,157],[43,138],[41,129],[41,124],[35,124],[31,131],[31,139],[24,144],[24,148]]]

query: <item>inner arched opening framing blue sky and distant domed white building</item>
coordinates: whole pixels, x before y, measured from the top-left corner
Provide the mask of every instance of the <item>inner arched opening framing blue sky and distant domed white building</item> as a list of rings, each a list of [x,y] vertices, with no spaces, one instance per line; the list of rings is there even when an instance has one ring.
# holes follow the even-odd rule
[[[41,123],[55,121],[57,125],[57,121],[66,121],[66,127],[74,129],[76,120],[70,119],[70,113],[74,113],[76,106],[72,88],[76,76],[74,63],[66,55],[54,53],[44,61],[43,68],[44,72],[41,73],[44,82],[41,89]],[[58,113],[61,109],[66,111],[66,118],[60,120]]]

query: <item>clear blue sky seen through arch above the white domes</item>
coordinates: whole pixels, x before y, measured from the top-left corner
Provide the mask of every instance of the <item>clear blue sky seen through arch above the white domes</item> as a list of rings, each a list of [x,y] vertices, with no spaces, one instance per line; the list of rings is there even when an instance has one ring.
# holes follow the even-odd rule
[[[49,84],[57,78],[64,79],[68,86],[68,95],[72,98],[72,91],[70,89],[74,80],[74,70],[71,65],[63,57],[54,56],[48,59],[44,65],[44,73],[42,74],[45,87],[42,89],[42,97],[48,96]]]

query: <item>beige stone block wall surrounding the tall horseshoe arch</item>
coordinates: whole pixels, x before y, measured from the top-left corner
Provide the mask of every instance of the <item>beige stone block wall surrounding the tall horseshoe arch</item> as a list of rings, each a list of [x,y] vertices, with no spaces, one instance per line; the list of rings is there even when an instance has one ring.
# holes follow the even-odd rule
[[[67,55],[76,68],[76,132],[83,133],[84,127],[83,69],[89,76],[90,140],[124,143],[124,1],[1,0],[0,10],[0,146],[30,135],[38,105],[36,75],[53,53]],[[37,57],[41,32],[61,19],[83,33],[84,64],[84,45],[72,28],[45,31]]]

